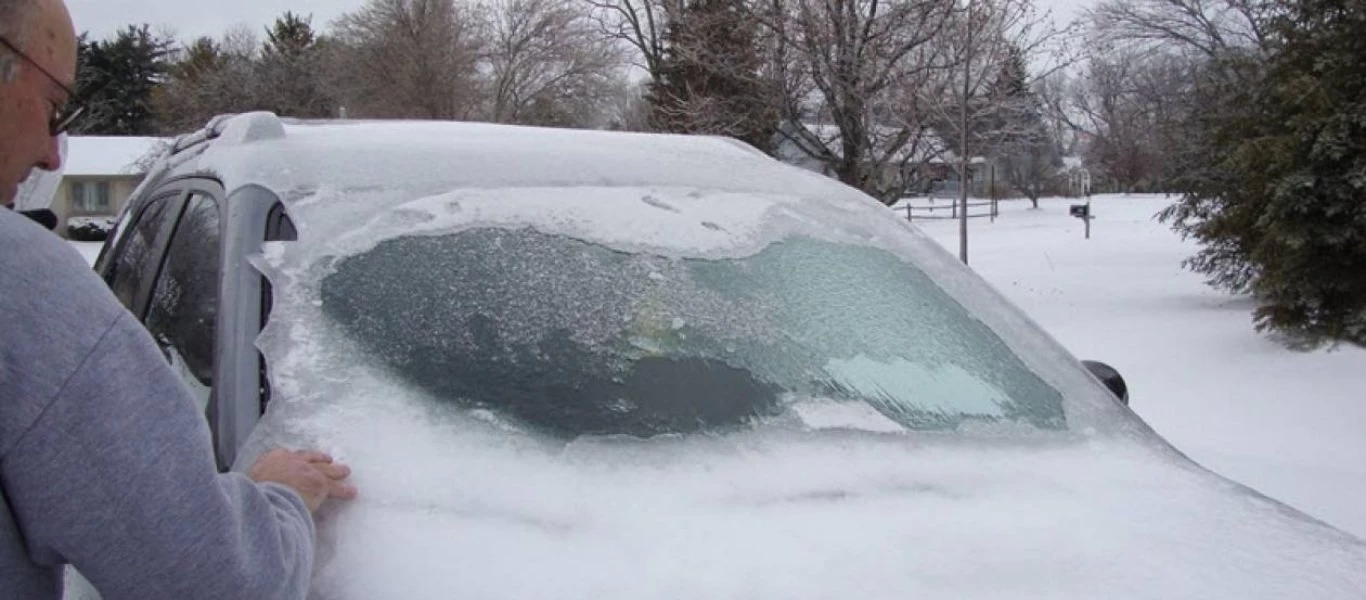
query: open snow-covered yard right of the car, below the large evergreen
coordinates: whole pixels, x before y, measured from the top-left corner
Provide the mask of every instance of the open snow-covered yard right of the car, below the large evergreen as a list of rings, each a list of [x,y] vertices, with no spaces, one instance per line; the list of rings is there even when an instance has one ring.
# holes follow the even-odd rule
[[[1366,350],[1298,353],[1253,331],[1251,299],[1180,265],[1161,195],[1003,202],[974,219],[973,268],[1079,358],[1119,369],[1131,405],[1194,461],[1366,537]],[[919,221],[958,253],[955,221]]]

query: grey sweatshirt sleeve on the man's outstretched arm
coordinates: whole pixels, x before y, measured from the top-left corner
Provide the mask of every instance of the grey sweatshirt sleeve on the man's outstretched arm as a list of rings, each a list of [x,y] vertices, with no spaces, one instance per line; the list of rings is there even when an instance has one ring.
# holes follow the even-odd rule
[[[105,331],[0,473],[30,556],[75,566],[105,600],[307,593],[303,500],[217,473],[204,415],[131,316]]]

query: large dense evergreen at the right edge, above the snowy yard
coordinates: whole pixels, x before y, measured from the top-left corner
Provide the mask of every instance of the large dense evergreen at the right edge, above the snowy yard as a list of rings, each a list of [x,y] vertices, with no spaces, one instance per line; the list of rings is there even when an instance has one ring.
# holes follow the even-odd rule
[[[1292,0],[1268,59],[1225,57],[1164,210],[1187,261],[1261,302],[1259,331],[1366,344],[1366,4]]]

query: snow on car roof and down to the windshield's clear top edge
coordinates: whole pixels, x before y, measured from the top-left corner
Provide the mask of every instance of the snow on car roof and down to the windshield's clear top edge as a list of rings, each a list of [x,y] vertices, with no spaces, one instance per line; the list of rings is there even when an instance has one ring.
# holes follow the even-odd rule
[[[753,250],[780,205],[816,202],[832,219],[885,212],[851,187],[716,137],[254,113],[224,122],[182,168],[217,174],[229,193],[273,190],[302,242],[339,254],[399,232],[482,223],[702,256]]]

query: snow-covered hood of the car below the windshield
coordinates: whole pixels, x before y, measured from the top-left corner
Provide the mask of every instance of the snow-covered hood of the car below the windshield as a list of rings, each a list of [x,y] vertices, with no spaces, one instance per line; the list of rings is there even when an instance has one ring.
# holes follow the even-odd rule
[[[313,597],[1358,599],[1366,589],[1361,540],[1142,440],[773,426],[563,444],[447,417],[314,420],[311,431],[329,433],[307,443],[352,466],[361,497],[320,517]],[[258,443],[299,433],[265,429]]]

